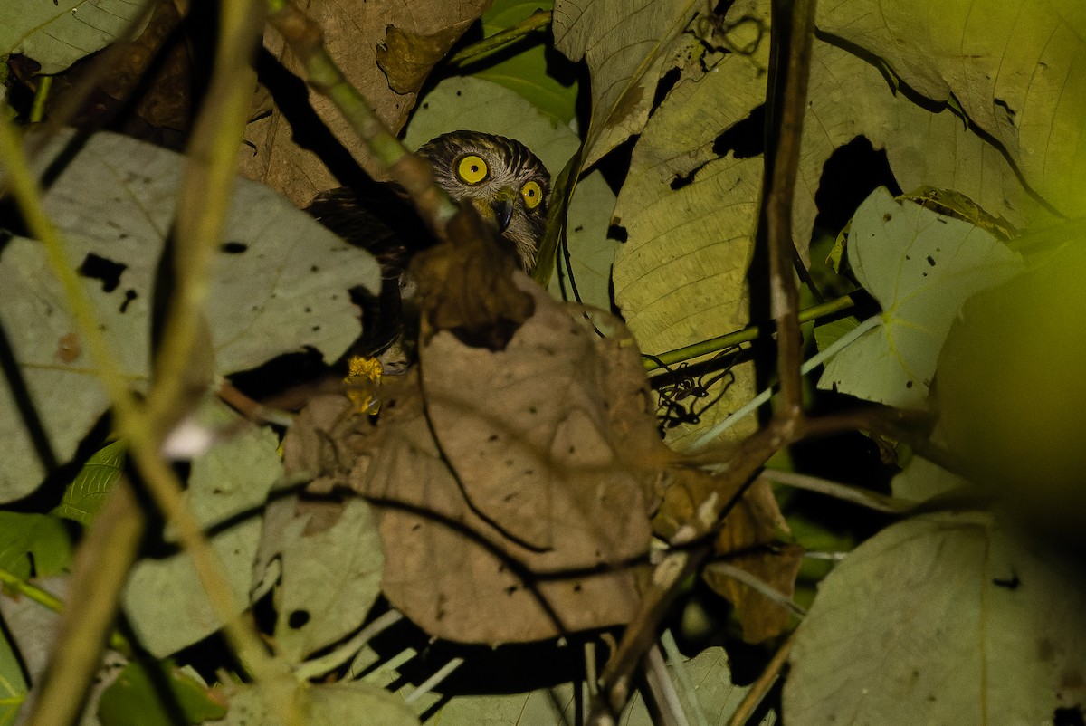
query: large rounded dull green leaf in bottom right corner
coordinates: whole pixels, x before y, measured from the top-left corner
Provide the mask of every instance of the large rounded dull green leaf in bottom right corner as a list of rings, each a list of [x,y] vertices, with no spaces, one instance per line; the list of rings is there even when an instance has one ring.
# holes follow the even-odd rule
[[[989,514],[888,527],[825,578],[799,625],[786,723],[1047,724],[1086,702],[1075,563]]]

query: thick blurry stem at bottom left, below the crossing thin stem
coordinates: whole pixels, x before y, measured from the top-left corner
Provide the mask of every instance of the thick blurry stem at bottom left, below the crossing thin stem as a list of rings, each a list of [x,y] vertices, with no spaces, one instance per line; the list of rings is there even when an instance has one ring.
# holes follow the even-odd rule
[[[147,517],[122,476],[76,552],[68,599],[78,605],[61,614],[29,726],[78,721],[146,526]]]

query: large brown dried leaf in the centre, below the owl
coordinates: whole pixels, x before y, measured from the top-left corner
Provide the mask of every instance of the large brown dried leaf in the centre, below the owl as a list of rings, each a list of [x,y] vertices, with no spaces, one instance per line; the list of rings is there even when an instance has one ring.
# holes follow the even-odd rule
[[[629,337],[597,338],[576,309],[517,279],[535,312],[506,348],[433,334],[422,349],[429,421],[390,426],[353,475],[367,496],[399,503],[381,516],[386,594],[455,640],[628,622],[653,463],[667,456]],[[405,402],[396,408],[403,416]]]

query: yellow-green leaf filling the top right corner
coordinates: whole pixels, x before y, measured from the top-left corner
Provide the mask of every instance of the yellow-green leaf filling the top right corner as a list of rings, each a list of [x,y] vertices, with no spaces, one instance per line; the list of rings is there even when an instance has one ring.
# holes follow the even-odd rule
[[[920,93],[958,104],[1060,212],[1086,212],[1081,0],[830,0],[818,10],[822,30],[884,59]]]

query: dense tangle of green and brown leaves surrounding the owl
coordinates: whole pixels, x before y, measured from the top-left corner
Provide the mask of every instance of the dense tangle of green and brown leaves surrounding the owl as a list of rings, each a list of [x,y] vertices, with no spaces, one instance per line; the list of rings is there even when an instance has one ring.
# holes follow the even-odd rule
[[[135,642],[110,639],[84,723],[1083,719],[1076,0],[823,0],[806,98],[780,85],[771,38],[790,18],[769,0],[555,0],[548,30],[518,25],[541,8],[519,0],[311,4],[324,45],[307,57],[269,32],[260,87],[230,101],[202,75],[229,58],[213,24],[172,2],[0,9],[2,116],[28,126],[61,264],[115,373],[166,422],[153,461],[130,429],[110,438],[129,414],[88,311],[27,202],[0,211],[0,724],[46,687],[81,700],[92,674],[58,686],[45,663],[73,646],[97,660],[110,634],[72,628],[116,601]],[[509,28],[509,46],[470,42]],[[177,64],[179,38],[204,65]],[[168,129],[187,155],[148,142],[165,126],[65,108],[148,67],[147,48],[173,80],[125,93],[202,104]],[[351,184],[392,235],[421,235],[369,177],[425,185],[334,112],[342,89],[299,92],[321,49],[407,147],[516,137],[554,179],[550,295],[478,228],[427,218],[470,243],[412,268],[407,375],[344,381],[399,271],[299,208]],[[768,220],[774,129],[797,102],[801,127],[781,132],[800,149],[791,215]],[[224,147],[248,178],[193,198],[214,157],[201,133],[228,107],[251,109]],[[0,158],[0,177],[20,164]],[[227,193],[222,231],[186,237]],[[770,272],[770,222],[795,280]],[[192,277],[201,243],[213,272]],[[801,361],[773,318],[793,285],[816,374],[799,416]],[[171,381],[155,354],[189,303],[194,354]],[[776,412],[743,417],[779,380]],[[154,481],[176,474],[173,506]],[[148,533],[108,553],[136,560],[127,584],[86,589],[128,489]],[[56,575],[76,588],[59,600]],[[636,693],[623,663],[644,665]]]

